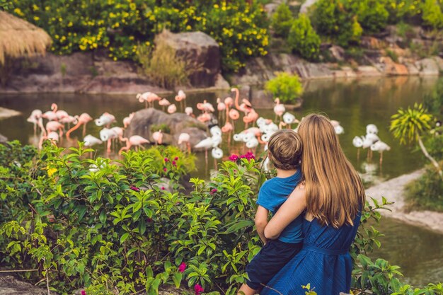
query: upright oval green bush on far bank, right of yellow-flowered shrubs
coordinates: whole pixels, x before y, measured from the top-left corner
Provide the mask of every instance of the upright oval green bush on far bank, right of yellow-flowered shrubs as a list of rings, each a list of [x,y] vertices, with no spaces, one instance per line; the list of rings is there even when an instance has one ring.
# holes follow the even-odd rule
[[[301,57],[312,61],[318,60],[321,40],[305,14],[301,14],[292,22],[288,43],[292,51],[300,54]]]

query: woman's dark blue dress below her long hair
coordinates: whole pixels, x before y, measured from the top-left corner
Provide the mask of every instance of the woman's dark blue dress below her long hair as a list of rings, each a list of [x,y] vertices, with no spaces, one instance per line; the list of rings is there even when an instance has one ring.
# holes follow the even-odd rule
[[[317,219],[303,221],[304,246],[301,251],[275,274],[268,287],[283,295],[304,295],[302,285],[311,284],[318,295],[349,293],[352,260],[349,248],[360,223],[360,214],[353,226],[321,226]],[[280,295],[265,287],[261,295]]]

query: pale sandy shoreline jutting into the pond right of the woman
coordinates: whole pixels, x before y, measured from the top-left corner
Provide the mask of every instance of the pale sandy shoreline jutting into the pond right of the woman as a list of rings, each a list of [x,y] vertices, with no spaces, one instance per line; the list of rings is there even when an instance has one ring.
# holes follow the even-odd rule
[[[403,198],[405,185],[419,178],[424,172],[424,169],[420,169],[413,173],[403,174],[386,180],[383,183],[369,187],[366,190],[366,194],[367,197],[373,197],[380,203],[382,196],[389,202],[393,202],[393,204],[388,206],[391,211],[379,211],[383,216],[443,234],[443,212],[432,212],[429,210],[405,212],[405,200]]]

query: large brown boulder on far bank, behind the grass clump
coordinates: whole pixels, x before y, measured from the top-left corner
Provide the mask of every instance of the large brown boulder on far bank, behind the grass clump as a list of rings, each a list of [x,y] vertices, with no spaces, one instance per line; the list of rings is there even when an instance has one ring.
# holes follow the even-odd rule
[[[199,69],[189,78],[192,86],[211,87],[221,73],[219,44],[202,32],[171,33],[163,30],[157,35],[156,42],[165,41],[176,50],[178,57],[183,57]]]

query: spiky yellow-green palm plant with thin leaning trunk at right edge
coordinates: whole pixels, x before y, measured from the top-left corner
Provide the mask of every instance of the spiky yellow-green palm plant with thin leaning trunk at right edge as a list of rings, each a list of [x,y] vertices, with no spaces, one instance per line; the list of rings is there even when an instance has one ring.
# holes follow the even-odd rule
[[[431,129],[430,122],[432,122],[432,115],[427,113],[427,110],[420,103],[415,103],[413,108],[408,107],[406,110],[400,108],[395,115],[391,116],[392,132],[396,139],[400,139],[400,144],[418,142],[422,153],[428,158],[432,165],[437,169],[440,177],[443,178],[442,168],[435,158],[427,152],[423,144],[421,135]]]

